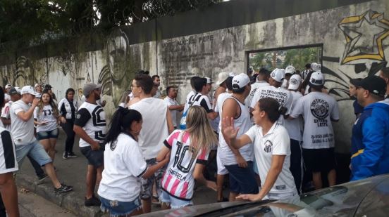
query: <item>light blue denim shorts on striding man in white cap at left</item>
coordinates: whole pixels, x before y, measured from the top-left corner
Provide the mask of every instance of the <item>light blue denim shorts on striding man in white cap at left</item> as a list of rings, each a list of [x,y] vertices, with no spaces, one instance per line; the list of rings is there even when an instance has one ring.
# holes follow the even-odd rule
[[[27,155],[32,157],[32,159],[35,159],[40,166],[51,163],[49,154],[47,154],[37,140],[26,145],[16,145],[16,160],[18,161],[19,166],[22,164],[23,159],[25,159]]]

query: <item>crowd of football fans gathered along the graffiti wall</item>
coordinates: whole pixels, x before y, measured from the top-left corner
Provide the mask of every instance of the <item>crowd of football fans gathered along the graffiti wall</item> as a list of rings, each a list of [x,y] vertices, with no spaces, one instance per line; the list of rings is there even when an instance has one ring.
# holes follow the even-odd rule
[[[5,93],[0,88],[2,214],[18,216],[13,173],[26,156],[39,180],[51,179],[54,193],[73,190],[58,180],[53,166],[59,126],[67,137],[63,159],[78,157],[75,135],[87,159],[85,206],[101,206],[111,216],[148,213],[154,199],[162,209],[190,206],[195,185],[215,190],[217,202],[294,197],[304,191],[307,176],[315,189],[323,188],[323,180],[335,185],[340,135],[332,122],[340,116],[321,65],[307,64],[301,73],[291,65],[252,73],[221,72],[214,91],[211,78],[192,77],[192,91],[179,104],[177,87],[168,86],[162,99],[159,76],[142,71],[109,126],[101,84],[83,86],[80,106],[73,88],[59,103],[48,84],[7,85]],[[351,180],[389,173],[388,86],[389,68],[350,80],[357,119]],[[216,182],[204,176],[212,161]]]

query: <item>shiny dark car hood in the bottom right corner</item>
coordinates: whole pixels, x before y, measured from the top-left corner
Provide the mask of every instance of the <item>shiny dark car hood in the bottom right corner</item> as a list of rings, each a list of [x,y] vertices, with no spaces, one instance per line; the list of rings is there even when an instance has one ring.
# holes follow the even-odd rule
[[[142,216],[261,216],[265,213],[266,216],[354,216],[359,205],[372,191],[388,188],[389,175],[374,176],[276,202],[264,200],[202,204]],[[389,194],[384,192],[380,199],[389,201]],[[361,212],[358,210],[358,213]]]

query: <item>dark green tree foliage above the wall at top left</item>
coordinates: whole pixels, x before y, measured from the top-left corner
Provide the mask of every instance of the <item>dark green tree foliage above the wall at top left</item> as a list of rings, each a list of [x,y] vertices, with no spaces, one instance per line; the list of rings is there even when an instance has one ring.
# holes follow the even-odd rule
[[[0,43],[109,30],[221,0],[1,0]]]

